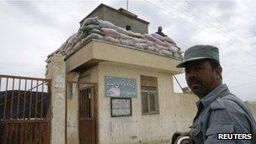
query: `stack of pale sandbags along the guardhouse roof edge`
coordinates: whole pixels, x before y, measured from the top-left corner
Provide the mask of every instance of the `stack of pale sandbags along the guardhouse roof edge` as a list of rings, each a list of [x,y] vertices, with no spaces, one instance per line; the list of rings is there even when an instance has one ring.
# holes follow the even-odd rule
[[[88,40],[91,39],[130,45],[136,49],[152,51],[164,56],[183,58],[180,48],[168,36],[163,37],[157,34],[141,35],[131,30],[120,28],[115,24],[98,19],[97,17],[84,19],[77,33],[70,36],[65,43],[53,53],[60,53],[65,57],[70,56],[73,52],[83,47],[83,45],[86,45]],[[52,54],[49,55],[48,58],[51,57]]]

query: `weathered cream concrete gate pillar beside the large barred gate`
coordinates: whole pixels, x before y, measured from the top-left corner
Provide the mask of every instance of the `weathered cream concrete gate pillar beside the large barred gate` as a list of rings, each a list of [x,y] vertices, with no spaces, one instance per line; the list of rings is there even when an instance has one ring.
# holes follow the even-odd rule
[[[51,144],[65,143],[66,64],[54,54],[46,67],[45,77],[51,79]]]

